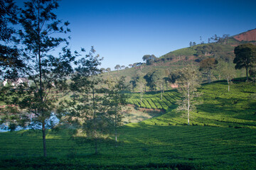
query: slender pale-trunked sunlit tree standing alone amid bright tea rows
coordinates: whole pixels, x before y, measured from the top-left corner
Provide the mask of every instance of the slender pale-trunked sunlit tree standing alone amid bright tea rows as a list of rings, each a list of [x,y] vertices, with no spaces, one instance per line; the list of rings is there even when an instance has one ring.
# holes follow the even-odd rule
[[[200,84],[200,77],[197,69],[191,67],[185,67],[179,71],[180,77],[177,79],[178,91],[182,95],[181,101],[178,102],[178,110],[186,110],[188,113],[188,125],[190,125],[189,117],[190,111],[195,108],[196,102],[193,100],[196,97],[195,91],[197,91]]]

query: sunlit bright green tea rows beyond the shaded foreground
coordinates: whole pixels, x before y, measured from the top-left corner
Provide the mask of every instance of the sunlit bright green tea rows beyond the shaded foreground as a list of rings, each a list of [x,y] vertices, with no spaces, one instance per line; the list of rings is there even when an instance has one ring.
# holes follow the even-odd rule
[[[256,128],[256,84],[239,82],[232,84],[230,91],[225,81],[205,84],[199,89],[196,111],[191,113],[193,125],[217,127]],[[186,125],[186,111],[176,111],[176,100],[180,99],[176,90],[161,94],[144,94],[140,102],[139,94],[132,94],[129,103],[138,107],[164,109],[166,114],[145,120],[149,125]],[[149,105],[149,104],[150,105]]]

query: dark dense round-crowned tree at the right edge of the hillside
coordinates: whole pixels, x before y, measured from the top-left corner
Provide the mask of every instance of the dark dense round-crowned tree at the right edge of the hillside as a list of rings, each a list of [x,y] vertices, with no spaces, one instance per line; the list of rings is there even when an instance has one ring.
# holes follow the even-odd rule
[[[246,69],[246,79],[248,80],[248,69],[256,62],[256,45],[251,43],[238,45],[235,47],[235,69]]]

